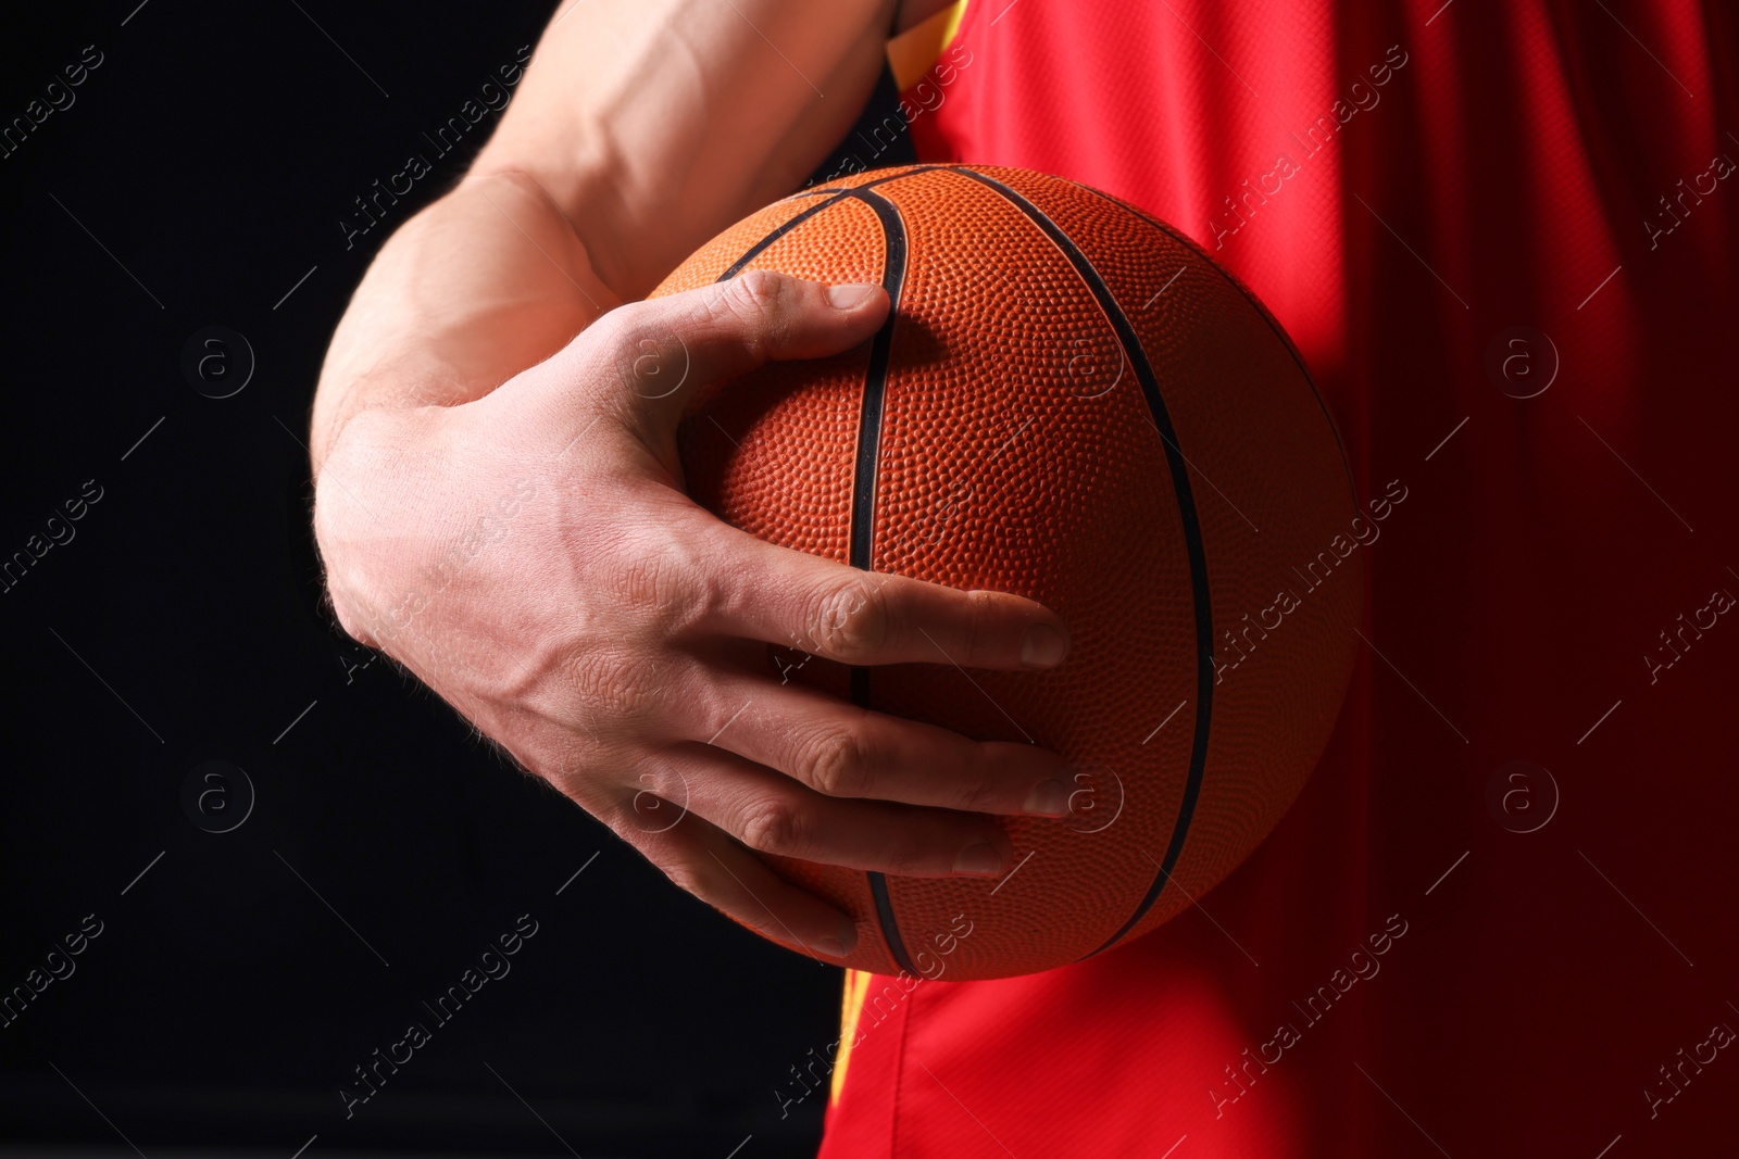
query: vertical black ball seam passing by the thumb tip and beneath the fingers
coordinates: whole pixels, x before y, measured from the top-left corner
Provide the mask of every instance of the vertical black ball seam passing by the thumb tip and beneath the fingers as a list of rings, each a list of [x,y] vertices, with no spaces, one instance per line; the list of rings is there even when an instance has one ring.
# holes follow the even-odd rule
[[[849,563],[864,572],[875,570],[875,485],[882,452],[882,410],[887,394],[887,361],[894,348],[894,323],[899,318],[899,292],[906,283],[906,222],[894,203],[875,193],[849,189],[842,196],[861,200],[882,222],[883,259],[882,288],[887,290],[887,321],[875,332],[870,344],[870,367],[864,372],[863,412],[857,419],[857,464],[852,476],[852,537]],[[870,707],[870,669],[854,667],[850,676],[852,704]],[[875,898],[876,921],[887,940],[889,954],[906,973],[918,973],[906,952],[894,916],[894,898],[887,890],[887,876],[868,872],[870,897]]]

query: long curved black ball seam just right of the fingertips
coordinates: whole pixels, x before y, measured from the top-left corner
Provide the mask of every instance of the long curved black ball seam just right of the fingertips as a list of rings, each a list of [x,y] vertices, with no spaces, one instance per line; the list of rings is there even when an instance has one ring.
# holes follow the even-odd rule
[[[1183,450],[1177,447],[1177,431],[1172,427],[1170,412],[1165,410],[1165,396],[1160,393],[1160,381],[1153,374],[1153,365],[1148,361],[1146,351],[1141,349],[1141,337],[1136,334],[1136,327],[1130,325],[1129,316],[1123,308],[1116,304],[1111,295],[1111,287],[1106,285],[1104,278],[1078,245],[1063,233],[1057,222],[1050,221],[1036,205],[1028,202],[1024,196],[1002,184],[995,177],[986,177],[984,174],[972,172],[970,169],[955,170],[962,177],[970,177],[979,184],[989,186],[1002,196],[1005,196],[1016,209],[1019,209],[1026,217],[1045,231],[1063,255],[1069,259],[1075,266],[1075,273],[1080,275],[1087,288],[1092,290],[1094,299],[1099,302],[1099,309],[1111,321],[1111,328],[1116,330],[1118,342],[1123,346],[1123,356],[1129,365],[1136,370],[1136,381],[1141,382],[1141,393],[1148,400],[1148,410],[1153,415],[1153,426],[1160,433],[1160,440],[1165,443],[1165,462],[1172,473],[1172,490],[1177,495],[1177,518],[1184,528],[1184,547],[1189,554],[1189,587],[1195,603],[1195,629],[1196,629],[1196,723],[1195,723],[1195,740],[1189,745],[1189,773],[1184,778],[1184,794],[1177,803],[1177,820],[1172,825],[1170,844],[1165,846],[1165,860],[1160,862],[1160,872],[1153,878],[1153,884],[1148,886],[1148,893],[1136,905],[1136,912],[1129,916],[1116,933],[1104,940],[1104,945],[1092,950],[1099,954],[1113,945],[1116,945],[1125,933],[1136,928],[1136,924],[1148,916],[1153,904],[1160,898],[1165,890],[1165,883],[1172,879],[1172,869],[1177,865],[1177,858],[1184,850],[1184,838],[1189,834],[1189,820],[1195,815],[1196,798],[1202,792],[1202,770],[1207,765],[1207,742],[1209,742],[1209,725],[1214,712],[1214,608],[1209,596],[1207,586],[1207,549],[1202,544],[1202,523],[1196,516],[1195,492],[1189,487],[1189,464],[1184,460]],[[1092,957],[1087,954],[1087,957]]]

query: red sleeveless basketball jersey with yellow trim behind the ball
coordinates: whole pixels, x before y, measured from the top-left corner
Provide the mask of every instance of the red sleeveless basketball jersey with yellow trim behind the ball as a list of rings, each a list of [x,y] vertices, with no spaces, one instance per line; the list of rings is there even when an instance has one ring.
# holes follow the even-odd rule
[[[1266,844],[1075,966],[849,975],[824,1159],[1734,1152],[1736,31],[970,2],[906,94],[920,158],[1193,235],[1303,349],[1362,497],[1403,499]]]

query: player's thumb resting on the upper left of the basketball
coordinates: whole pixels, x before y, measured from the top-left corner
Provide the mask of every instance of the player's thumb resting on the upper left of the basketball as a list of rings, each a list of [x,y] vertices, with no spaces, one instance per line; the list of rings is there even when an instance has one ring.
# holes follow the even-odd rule
[[[824,285],[748,269],[729,281],[614,309],[586,335],[593,354],[607,358],[630,391],[675,419],[708,382],[864,342],[887,309],[878,285]]]

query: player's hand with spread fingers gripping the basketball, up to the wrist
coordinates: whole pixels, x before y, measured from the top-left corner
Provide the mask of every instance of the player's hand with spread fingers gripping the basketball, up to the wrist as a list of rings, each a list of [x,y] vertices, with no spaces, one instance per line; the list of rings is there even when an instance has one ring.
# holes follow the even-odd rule
[[[459,405],[377,407],[332,441],[315,528],[344,629],[765,937],[838,957],[826,902],[751,850],[890,874],[996,876],[991,813],[1066,811],[1057,756],[979,744],[781,683],[767,643],[845,664],[1043,669],[1045,608],[774,547],[696,506],[675,429],[699,386],[866,341],[880,287],[748,273],[621,306]],[[643,342],[690,372],[636,389]]]

